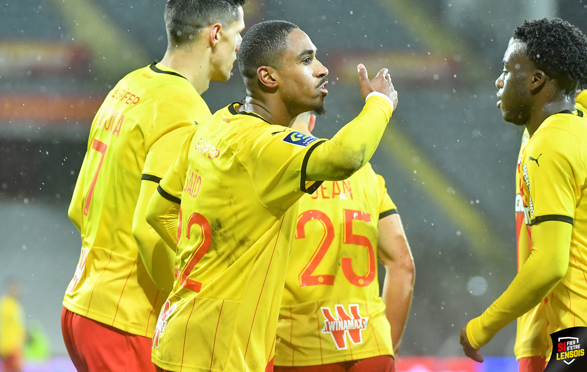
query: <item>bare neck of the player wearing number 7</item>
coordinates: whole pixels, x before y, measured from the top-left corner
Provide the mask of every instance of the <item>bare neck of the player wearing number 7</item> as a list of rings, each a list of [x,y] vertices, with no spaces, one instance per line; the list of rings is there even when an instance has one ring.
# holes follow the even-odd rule
[[[160,62],[184,76],[198,94],[208,90],[211,80],[210,49],[201,49],[203,48],[168,49]]]

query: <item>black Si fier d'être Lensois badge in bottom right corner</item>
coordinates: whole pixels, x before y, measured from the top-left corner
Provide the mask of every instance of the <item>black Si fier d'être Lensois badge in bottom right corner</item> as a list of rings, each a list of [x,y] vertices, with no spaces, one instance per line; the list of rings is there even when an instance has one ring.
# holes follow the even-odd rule
[[[544,372],[587,371],[587,327],[571,327],[551,334],[552,355]]]

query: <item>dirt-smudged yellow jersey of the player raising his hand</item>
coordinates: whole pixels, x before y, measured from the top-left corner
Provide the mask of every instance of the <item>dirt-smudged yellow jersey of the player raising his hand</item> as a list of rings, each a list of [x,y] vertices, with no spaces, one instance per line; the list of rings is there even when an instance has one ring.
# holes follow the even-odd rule
[[[181,204],[177,279],[153,337],[166,370],[273,363],[297,201],[321,184],[305,182],[305,167],[322,140],[239,106],[198,124],[157,189]]]

